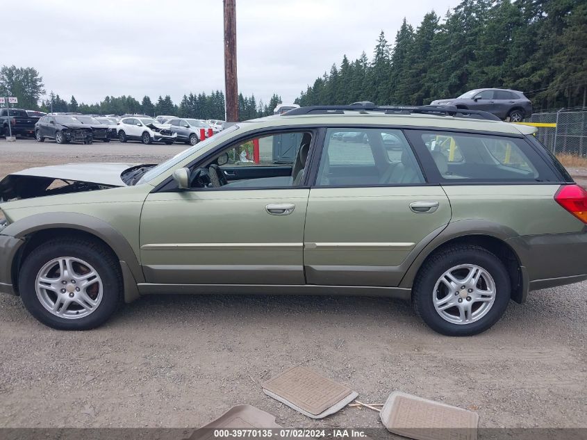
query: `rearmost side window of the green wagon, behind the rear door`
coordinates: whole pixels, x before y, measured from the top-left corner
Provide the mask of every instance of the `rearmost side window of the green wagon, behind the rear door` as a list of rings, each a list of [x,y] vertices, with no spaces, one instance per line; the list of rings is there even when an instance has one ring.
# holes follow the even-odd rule
[[[560,180],[522,138],[446,131],[408,131],[408,137],[441,182]]]

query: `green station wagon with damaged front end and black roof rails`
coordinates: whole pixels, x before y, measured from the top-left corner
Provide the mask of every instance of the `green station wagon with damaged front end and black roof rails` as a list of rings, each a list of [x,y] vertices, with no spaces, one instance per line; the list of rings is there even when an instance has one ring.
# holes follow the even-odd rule
[[[587,279],[587,193],[532,136],[454,107],[295,108],[159,165],[0,181],[0,291],[57,329],[160,293],[388,296],[477,334]]]

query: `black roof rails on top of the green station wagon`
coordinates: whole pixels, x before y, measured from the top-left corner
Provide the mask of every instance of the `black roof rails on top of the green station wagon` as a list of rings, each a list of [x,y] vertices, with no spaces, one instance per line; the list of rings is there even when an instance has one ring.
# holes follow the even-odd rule
[[[480,110],[468,110],[456,108],[456,106],[376,106],[370,101],[354,102],[349,106],[308,106],[293,108],[282,116],[295,115],[344,115],[345,111],[358,111],[367,114],[368,112],[381,112],[386,115],[411,115],[413,113],[438,116],[465,117],[468,119],[483,119],[500,121],[499,117]]]

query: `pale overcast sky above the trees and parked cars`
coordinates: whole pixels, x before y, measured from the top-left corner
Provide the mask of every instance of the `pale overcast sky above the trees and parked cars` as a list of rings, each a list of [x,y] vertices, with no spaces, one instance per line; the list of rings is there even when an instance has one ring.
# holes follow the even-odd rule
[[[459,1],[236,3],[239,90],[287,102],[344,54],[371,57],[381,30],[393,42],[404,17],[416,27],[429,10],[443,17]],[[68,101],[171,95],[179,103],[224,90],[222,0],[25,0],[3,10],[0,65],[35,67],[47,92]]]

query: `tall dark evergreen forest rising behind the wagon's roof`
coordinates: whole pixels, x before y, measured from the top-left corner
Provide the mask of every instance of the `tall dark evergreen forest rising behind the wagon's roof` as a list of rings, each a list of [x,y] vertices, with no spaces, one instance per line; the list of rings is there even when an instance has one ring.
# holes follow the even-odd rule
[[[372,59],[342,58],[295,101],[301,106],[423,105],[474,88],[521,90],[534,109],[585,106],[587,1],[463,0],[445,17],[404,22]]]

